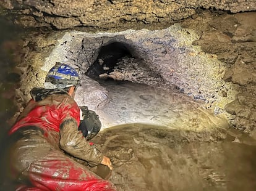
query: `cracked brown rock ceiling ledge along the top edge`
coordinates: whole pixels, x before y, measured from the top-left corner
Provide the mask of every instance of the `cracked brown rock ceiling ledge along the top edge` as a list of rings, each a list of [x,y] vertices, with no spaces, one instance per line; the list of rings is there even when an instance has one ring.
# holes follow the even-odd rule
[[[256,2],[254,0],[4,0],[0,2],[0,6],[11,10],[9,14],[15,14],[15,23],[24,26],[52,26],[58,29],[92,26],[124,30],[131,26],[142,28],[152,23],[163,26],[194,15],[198,8],[229,10],[232,13],[255,10]],[[234,41],[237,40],[239,39],[234,38]]]

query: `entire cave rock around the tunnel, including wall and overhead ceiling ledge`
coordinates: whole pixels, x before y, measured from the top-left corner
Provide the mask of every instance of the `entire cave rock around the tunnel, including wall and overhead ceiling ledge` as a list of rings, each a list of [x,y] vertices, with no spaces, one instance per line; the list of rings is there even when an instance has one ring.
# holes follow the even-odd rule
[[[256,128],[256,17],[255,12],[247,12],[256,9],[255,1],[73,1],[70,4],[4,0],[0,5],[2,14],[22,26],[58,29],[85,26],[93,31],[54,31],[56,34],[39,35],[30,39],[32,42],[26,39],[23,51],[30,51],[25,51],[29,59],[20,64],[20,70],[22,83],[28,84],[16,91],[19,103],[24,104],[30,98],[30,87],[42,85],[52,63],[68,62],[84,73],[100,47],[118,39],[129,44],[134,55],[156,71],[165,84],[202,100],[216,115],[226,113],[236,128],[247,132]],[[215,11],[209,14],[203,9]],[[247,13],[230,14],[237,12]],[[179,23],[171,26],[174,22]],[[136,31],[124,31],[128,28]],[[96,32],[103,30],[122,32]],[[84,79],[83,84],[91,87],[90,80]],[[106,99],[107,92],[100,86],[92,92],[102,97],[95,102],[95,108]]]

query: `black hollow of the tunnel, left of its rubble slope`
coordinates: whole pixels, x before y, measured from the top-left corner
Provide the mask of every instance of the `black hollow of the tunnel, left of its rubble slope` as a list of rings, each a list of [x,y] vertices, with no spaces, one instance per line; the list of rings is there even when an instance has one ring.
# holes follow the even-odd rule
[[[108,78],[117,62],[123,57],[132,58],[127,44],[114,42],[100,48],[97,59],[88,69],[86,75],[93,79]]]

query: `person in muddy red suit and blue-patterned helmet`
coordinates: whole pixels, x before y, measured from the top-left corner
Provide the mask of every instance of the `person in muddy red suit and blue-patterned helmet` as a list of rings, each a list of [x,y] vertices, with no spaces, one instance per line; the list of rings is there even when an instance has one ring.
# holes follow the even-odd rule
[[[45,88],[30,92],[32,99],[9,131],[9,166],[22,185],[17,190],[116,190],[68,156],[113,168],[109,158],[87,141],[99,128],[86,131],[87,137],[79,131],[81,112],[74,100],[79,84],[74,68],[56,63]]]

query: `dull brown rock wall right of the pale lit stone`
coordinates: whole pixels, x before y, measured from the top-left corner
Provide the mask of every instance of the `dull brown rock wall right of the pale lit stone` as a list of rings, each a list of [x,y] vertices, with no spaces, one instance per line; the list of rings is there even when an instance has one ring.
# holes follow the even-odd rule
[[[182,26],[197,28],[200,39],[193,44],[216,54],[226,65],[223,79],[232,88],[218,92],[223,102],[217,106],[231,114],[229,119],[234,127],[256,137],[256,13],[220,13],[213,19],[211,15],[203,15],[186,20]],[[232,102],[226,100],[229,94],[234,96]]]

